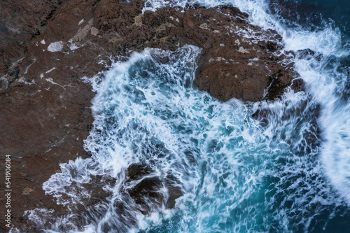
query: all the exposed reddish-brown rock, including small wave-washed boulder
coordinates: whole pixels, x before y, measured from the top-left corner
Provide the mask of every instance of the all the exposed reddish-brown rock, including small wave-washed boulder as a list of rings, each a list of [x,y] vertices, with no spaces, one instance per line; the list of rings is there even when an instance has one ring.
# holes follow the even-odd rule
[[[292,54],[279,52],[280,36],[248,24],[244,13],[229,6],[142,14],[142,1],[13,0],[0,5],[6,9],[1,11],[0,155],[12,157],[12,223],[22,230],[26,210],[62,213],[42,183],[59,163],[89,156],[83,139],[92,128],[93,92],[81,78],[102,71],[116,56],[126,59],[147,47],[196,45],[202,55],[195,85],[223,101],[274,99],[295,76],[288,59]],[[126,192],[148,212],[151,207],[140,195],[150,187],[145,195],[172,208],[182,195],[173,183],[169,174]],[[168,200],[158,192],[164,185],[172,192]]]

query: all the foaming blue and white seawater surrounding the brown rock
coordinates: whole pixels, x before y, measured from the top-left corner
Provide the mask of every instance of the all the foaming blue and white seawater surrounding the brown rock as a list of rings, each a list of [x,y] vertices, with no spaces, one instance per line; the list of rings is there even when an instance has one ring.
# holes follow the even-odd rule
[[[193,87],[200,48],[133,53],[92,80],[92,157],[61,164],[43,185],[67,215],[29,218],[46,232],[350,232],[349,2],[148,0],[145,10],[188,3],[231,4],[278,31],[306,91],[223,103]],[[144,215],[125,195],[139,182],[125,183],[135,163],[151,167],[148,177],[172,177],[183,193],[173,209]],[[111,195],[77,221],[96,175],[116,179],[96,186]],[[159,190],[165,199],[171,191]]]

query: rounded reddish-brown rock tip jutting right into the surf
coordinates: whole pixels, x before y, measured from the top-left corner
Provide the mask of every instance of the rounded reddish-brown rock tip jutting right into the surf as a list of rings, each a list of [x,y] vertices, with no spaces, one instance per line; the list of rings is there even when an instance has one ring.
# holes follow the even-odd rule
[[[247,40],[243,34],[235,33],[230,24],[212,28],[221,33],[214,36],[211,48],[200,59],[194,84],[223,101],[233,97],[244,101],[273,100],[281,96],[284,88],[291,85],[295,73],[282,66],[285,55],[272,54],[281,49],[279,35],[259,30],[244,20],[235,22],[235,26],[237,24],[257,31],[260,41]]]

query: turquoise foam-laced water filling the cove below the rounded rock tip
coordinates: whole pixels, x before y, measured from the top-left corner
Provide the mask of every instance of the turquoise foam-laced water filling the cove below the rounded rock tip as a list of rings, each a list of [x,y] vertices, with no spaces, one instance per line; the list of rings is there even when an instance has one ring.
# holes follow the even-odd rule
[[[325,181],[316,181],[317,148],[305,141],[305,135],[313,134],[315,110],[307,94],[290,93],[287,101],[269,106],[269,120],[274,122],[261,127],[251,118],[253,106],[237,100],[222,103],[191,85],[193,50],[168,53],[169,64],[151,58],[158,55],[156,50],[135,54],[110,71],[94,99],[95,118],[102,120],[95,124],[103,136],[92,134],[88,149],[101,148],[94,154],[97,160],[103,155],[100,164],[146,162],[155,174],[170,173],[181,181],[184,195],[176,209],[142,216],[139,228],[287,232],[290,220],[311,220],[309,209],[325,209],[318,201],[333,204],[331,196],[321,193],[330,192]],[[300,111],[310,111],[311,116],[293,113],[302,104],[305,109]],[[152,150],[155,144],[161,151]],[[314,189],[308,190],[311,185]]]

